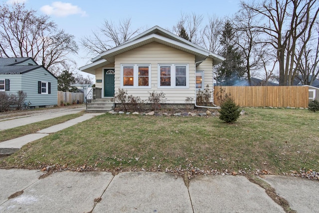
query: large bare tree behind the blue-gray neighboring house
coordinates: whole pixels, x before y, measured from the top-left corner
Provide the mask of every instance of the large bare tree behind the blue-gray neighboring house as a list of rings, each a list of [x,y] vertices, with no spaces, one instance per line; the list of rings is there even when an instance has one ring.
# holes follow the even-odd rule
[[[32,57],[50,70],[70,62],[70,53],[77,53],[74,36],[50,21],[38,16],[24,3],[0,5],[0,57]]]

